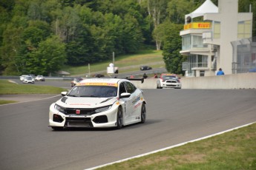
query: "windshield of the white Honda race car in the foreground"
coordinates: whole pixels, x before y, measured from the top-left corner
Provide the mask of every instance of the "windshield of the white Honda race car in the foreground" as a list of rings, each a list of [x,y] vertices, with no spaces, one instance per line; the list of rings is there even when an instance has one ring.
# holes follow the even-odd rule
[[[72,97],[92,97],[111,98],[117,95],[116,86],[75,86],[68,96]]]

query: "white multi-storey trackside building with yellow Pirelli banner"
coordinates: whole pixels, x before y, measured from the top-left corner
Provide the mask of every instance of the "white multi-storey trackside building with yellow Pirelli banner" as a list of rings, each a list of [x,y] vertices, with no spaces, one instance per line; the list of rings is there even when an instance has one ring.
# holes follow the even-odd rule
[[[186,76],[216,75],[219,68],[232,74],[232,41],[252,38],[252,13],[238,13],[238,0],[219,0],[218,7],[206,0],[185,17],[180,53],[188,57]]]

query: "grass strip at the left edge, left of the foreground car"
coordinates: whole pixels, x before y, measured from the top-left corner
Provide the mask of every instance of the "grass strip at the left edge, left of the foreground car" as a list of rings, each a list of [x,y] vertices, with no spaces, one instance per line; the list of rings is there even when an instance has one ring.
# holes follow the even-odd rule
[[[14,84],[6,80],[0,80],[0,95],[16,94],[59,94],[67,89],[55,86],[36,86],[30,84]]]

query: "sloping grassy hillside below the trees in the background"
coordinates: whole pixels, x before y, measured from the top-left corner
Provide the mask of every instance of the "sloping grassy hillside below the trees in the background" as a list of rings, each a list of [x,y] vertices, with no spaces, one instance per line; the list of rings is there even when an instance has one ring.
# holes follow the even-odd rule
[[[107,67],[110,63],[112,63],[112,59],[109,61],[104,61],[97,64],[90,64],[90,72],[99,72],[107,70]],[[137,54],[134,55],[122,55],[115,57],[115,67],[119,67],[119,71],[123,72],[121,68],[123,67],[130,67],[130,66],[140,66],[140,65],[150,65],[153,68],[165,67],[165,64],[159,64],[159,62],[163,62],[163,55],[162,51],[156,50],[142,50]],[[134,67],[128,71],[135,71],[138,70],[139,67]],[[63,68],[64,71],[70,72],[70,75],[82,75],[89,72],[88,64],[85,66],[80,67],[69,67],[66,66]]]

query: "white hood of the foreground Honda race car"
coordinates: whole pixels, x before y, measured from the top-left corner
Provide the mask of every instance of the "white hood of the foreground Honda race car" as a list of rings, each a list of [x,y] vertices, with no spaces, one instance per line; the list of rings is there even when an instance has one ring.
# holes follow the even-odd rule
[[[65,96],[56,102],[66,108],[95,108],[113,104],[116,98],[86,98]]]

